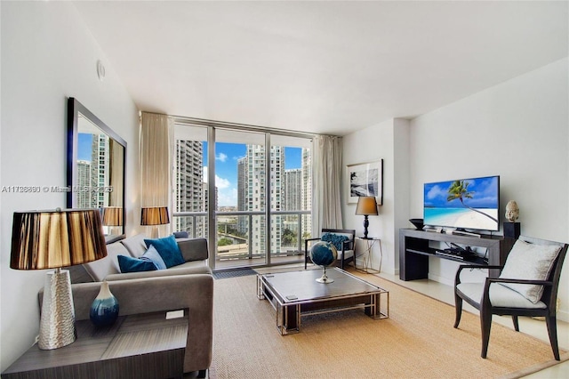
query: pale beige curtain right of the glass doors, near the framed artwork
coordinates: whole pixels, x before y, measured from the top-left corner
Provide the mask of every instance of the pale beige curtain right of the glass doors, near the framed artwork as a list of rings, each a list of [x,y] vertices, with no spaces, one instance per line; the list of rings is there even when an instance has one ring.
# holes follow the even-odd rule
[[[323,228],[342,229],[341,137],[319,135],[312,143],[312,236],[320,236]]]

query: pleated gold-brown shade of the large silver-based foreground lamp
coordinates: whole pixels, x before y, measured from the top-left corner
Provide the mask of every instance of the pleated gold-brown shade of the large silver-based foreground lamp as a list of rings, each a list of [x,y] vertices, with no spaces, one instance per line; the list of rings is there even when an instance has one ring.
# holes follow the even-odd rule
[[[44,270],[107,256],[97,209],[15,212],[10,267]]]

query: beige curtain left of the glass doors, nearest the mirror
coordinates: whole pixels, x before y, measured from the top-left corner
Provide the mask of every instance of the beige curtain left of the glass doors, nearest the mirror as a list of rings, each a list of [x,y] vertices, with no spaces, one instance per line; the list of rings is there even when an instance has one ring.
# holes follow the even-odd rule
[[[166,115],[142,112],[140,206],[168,206],[171,214],[172,130],[173,122]]]

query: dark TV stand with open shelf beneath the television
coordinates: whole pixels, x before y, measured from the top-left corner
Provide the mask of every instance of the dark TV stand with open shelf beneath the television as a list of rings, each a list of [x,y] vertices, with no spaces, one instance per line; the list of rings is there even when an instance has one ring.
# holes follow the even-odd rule
[[[444,250],[429,247],[430,241],[447,242],[465,246],[478,246],[487,249],[487,260],[480,257],[457,257],[444,254]],[[448,259],[465,264],[503,265],[515,239],[501,236],[463,236],[432,231],[400,229],[399,230],[399,278],[415,280],[429,278],[429,257]],[[439,254],[437,254],[437,250]],[[491,270],[490,276],[497,277],[499,272]]]

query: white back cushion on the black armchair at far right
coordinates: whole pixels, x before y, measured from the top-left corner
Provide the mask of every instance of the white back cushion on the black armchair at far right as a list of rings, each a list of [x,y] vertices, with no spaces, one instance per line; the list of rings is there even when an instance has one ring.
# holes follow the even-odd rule
[[[509,252],[500,278],[547,280],[553,262],[561,246],[533,245],[518,239]],[[514,291],[522,294],[530,302],[536,303],[541,299],[543,286],[517,283],[503,283]]]

